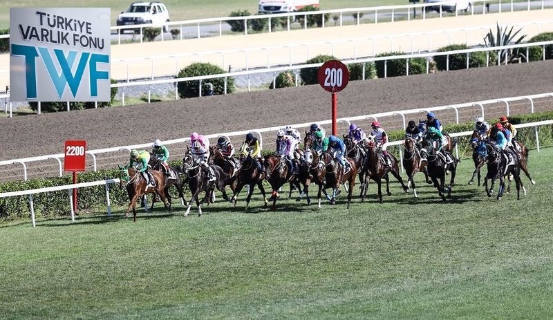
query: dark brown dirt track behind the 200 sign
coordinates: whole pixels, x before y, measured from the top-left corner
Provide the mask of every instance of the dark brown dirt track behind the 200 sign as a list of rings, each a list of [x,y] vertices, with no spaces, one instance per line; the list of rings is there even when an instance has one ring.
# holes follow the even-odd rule
[[[428,108],[480,100],[552,92],[553,62],[532,62],[350,82],[338,94],[338,116],[351,117],[386,111]],[[536,101],[535,111],[553,110],[553,98]],[[510,106],[511,114],[529,113],[530,104]],[[486,106],[486,117],[505,113],[505,104]],[[473,120],[478,107],[462,109],[461,122]],[[442,122],[455,121],[453,111],[437,113]],[[421,113],[420,117],[424,117]],[[200,134],[224,133],[283,126],[330,119],[330,93],[319,85],[299,88],[235,93],[107,109],[91,109],[0,118],[3,129],[0,160],[62,153],[64,140],[86,140],[87,147],[101,149],[153,142],[157,138],[185,138]],[[409,120],[409,119],[408,119]],[[492,119],[493,120],[493,119]],[[368,129],[371,120],[358,122]],[[385,129],[400,129],[401,118],[379,119]],[[330,128],[328,128],[330,129]],[[339,126],[346,132],[345,124]],[[274,133],[264,135],[265,148],[272,147]],[[242,138],[234,138],[240,144]],[[171,145],[171,158],[182,158],[184,145]],[[128,159],[128,151],[98,157],[98,166],[113,168]],[[91,166],[90,159],[87,165]],[[21,179],[21,165],[3,166],[3,180]],[[55,176],[57,162],[28,163],[29,178]]]

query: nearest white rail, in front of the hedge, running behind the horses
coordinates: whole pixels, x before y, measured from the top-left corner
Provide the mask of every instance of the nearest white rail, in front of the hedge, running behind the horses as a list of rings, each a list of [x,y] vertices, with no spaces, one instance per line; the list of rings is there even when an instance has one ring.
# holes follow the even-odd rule
[[[532,122],[532,123],[526,123],[526,124],[517,124],[517,128],[527,128],[527,127],[530,127],[530,126],[534,126],[534,134],[536,136],[536,147],[537,147],[537,150],[539,152],[540,149],[539,149],[539,140],[538,140],[538,126],[543,126],[543,125],[547,125],[547,124],[553,124],[553,120],[545,120],[545,121]],[[247,132],[247,131],[243,131],[243,132]],[[451,135],[451,137],[460,137],[460,136],[463,136],[463,135],[471,135],[472,133],[473,133],[473,131],[463,131],[463,132],[458,132],[458,133],[451,133],[450,135]],[[212,137],[212,136],[213,135],[209,135],[209,137]],[[400,144],[404,144],[404,140],[393,141],[393,142],[390,142],[388,145],[400,145]],[[458,151],[457,151],[456,156],[457,157],[459,156]],[[402,157],[403,157],[402,156],[402,149],[400,149],[400,158],[402,158]],[[403,171],[404,170],[403,162],[400,161],[400,163],[402,164],[402,171]],[[93,186],[97,186],[97,185],[106,185],[106,209],[107,209],[108,216],[110,216],[111,215],[111,204],[110,204],[110,200],[109,200],[109,184],[119,183],[119,182],[120,182],[119,179],[111,179],[111,180],[100,180],[100,181],[93,181],[93,182],[77,183],[77,184],[74,184],[74,185],[61,185],[61,186],[57,186],[57,187],[48,187],[48,188],[32,189],[32,190],[24,190],[24,191],[13,191],[13,192],[6,192],[6,193],[3,193],[3,194],[0,194],[0,198],[6,198],[6,197],[11,197],[11,196],[26,196],[26,195],[28,195],[29,196],[29,206],[30,206],[30,211],[31,211],[32,226],[36,227],[35,211],[34,211],[33,204],[32,204],[32,195],[43,193],[43,192],[69,190],[70,191],[69,192],[69,205],[71,207],[71,220],[73,222],[75,222],[75,212],[73,211],[73,192],[71,192],[72,189],[78,189],[78,188],[82,188],[82,187],[93,187]]]

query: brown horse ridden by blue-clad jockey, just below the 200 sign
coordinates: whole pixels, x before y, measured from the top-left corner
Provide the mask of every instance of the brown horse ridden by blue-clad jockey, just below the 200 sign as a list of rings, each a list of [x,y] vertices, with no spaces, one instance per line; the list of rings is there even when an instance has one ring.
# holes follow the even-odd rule
[[[345,159],[350,164],[350,170],[344,172],[346,169],[339,164],[338,160],[335,160],[332,153],[325,151],[322,153],[319,161],[324,163],[325,168],[325,182],[319,185],[319,207],[321,207],[321,191],[323,189],[332,188],[332,196],[330,197],[330,204],[336,204],[336,194],[340,188],[340,184],[348,182],[348,205],[346,209],[350,208],[351,195],[353,194],[353,187],[355,187],[355,178],[357,176],[357,167],[355,166],[355,161],[351,158]],[[326,194],[326,193],[325,193]],[[328,196],[327,196],[328,197]]]

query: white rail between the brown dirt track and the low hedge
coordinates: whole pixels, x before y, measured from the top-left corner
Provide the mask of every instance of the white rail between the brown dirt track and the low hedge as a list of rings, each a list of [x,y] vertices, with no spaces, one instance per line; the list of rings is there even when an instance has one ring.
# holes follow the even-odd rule
[[[538,95],[522,95],[518,97],[503,97],[498,99],[492,99],[492,100],[483,100],[479,102],[469,102],[469,103],[463,103],[463,104],[451,104],[447,106],[435,106],[432,108],[425,108],[425,109],[409,109],[409,110],[400,110],[400,111],[390,111],[390,112],[384,112],[384,113],[375,113],[372,115],[358,115],[355,117],[344,117],[339,118],[339,122],[346,122],[348,125],[351,124],[352,121],[357,120],[366,120],[366,119],[374,119],[377,120],[379,117],[388,117],[388,116],[400,116],[402,117],[403,127],[406,127],[406,120],[405,115],[409,114],[418,114],[421,112],[427,113],[429,111],[454,111],[456,113],[456,123],[459,123],[459,109],[462,108],[469,108],[474,106],[480,107],[480,112],[482,117],[485,117],[485,105],[486,104],[496,104],[498,102],[505,104],[505,115],[509,116],[509,102],[516,102],[521,100],[528,100],[530,103],[530,112],[534,113],[534,100],[541,99],[541,98],[553,98],[553,92],[550,93],[541,93]],[[314,121],[318,124],[331,124],[332,120],[321,120],[321,121]],[[294,124],[292,127],[296,129],[300,128],[308,128],[313,122],[306,122],[301,124]],[[261,129],[251,129],[251,130],[242,130],[242,131],[234,131],[234,132],[227,132],[227,133],[215,133],[206,135],[207,138],[218,138],[219,136],[223,135],[226,137],[234,137],[237,135],[245,135],[247,133],[256,133],[259,136],[259,142],[261,144],[261,147],[263,147],[263,136],[261,133],[264,132],[274,132],[281,129],[283,126],[270,126],[267,128],[261,128]],[[183,143],[190,140],[189,138],[178,138],[173,140],[167,140],[164,141],[164,144],[177,144],[177,143]],[[96,165],[96,156],[102,153],[113,153],[118,151],[131,151],[131,149],[140,149],[140,148],[147,148],[151,147],[151,142],[143,143],[143,144],[135,144],[135,145],[129,145],[129,146],[122,146],[122,147],[111,147],[111,148],[105,148],[105,149],[95,149],[95,150],[88,150],[86,151],[86,154],[90,155],[93,158],[93,170],[96,171],[97,165]],[[56,160],[59,167],[59,176],[61,177],[63,175],[63,165],[62,165],[62,159],[64,158],[64,153],[57,153],[53,155],[47,155],[47,156],[38,156],[38,157],[31,157],[31,158],[19,158],[19,159],[12,159],[12,160],[3,160],[0,161],[0,166],[5,165],[13,165],[13,164],[21,164],[23,166],[23,175],[24,180],[27,180],[27,165],[28,162],[36,162],[36,161],[44,161],[44,160]]]

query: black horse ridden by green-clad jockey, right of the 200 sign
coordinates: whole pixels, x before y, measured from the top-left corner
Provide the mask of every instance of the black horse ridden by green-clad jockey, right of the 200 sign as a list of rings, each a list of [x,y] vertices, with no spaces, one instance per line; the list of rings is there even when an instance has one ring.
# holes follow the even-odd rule
[[[451,189],[455,183],[455,175],[457,172],[457,160],[453,158],[451,153],[444,152],[446,157],[449,155],[452,162],[447,162],[441,156],[436,153],[432,143],[429,140],[422,140],[421,156],[427,158],[427,171],[428,175],[432,179],[434,187],[438,189],[438,194],[442,200],[446,200],[444,191],[447,191],[447,198],[451,198]],[[447,171],[451,172],[451,180],[449,186],[444,186],[445,176]]]

